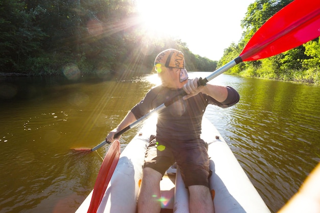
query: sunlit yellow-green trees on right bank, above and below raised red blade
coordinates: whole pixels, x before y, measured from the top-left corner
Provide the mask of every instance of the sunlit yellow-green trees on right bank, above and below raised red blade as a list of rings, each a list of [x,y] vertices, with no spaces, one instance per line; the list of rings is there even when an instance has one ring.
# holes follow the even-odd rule
[[[241,27],[244,29],[241,40],[238,44],[232,43],[225,49],[223,57],[218,62],[218,67],[239,56],[245,44],[263,23],[290,2],[292,0],[256,0],[250,4],[245,17],[241,21]],[[320,44],[317,38],[277,56],[241,63],[233,67],[229,73],[241,76],[319,83],[319,67]]]

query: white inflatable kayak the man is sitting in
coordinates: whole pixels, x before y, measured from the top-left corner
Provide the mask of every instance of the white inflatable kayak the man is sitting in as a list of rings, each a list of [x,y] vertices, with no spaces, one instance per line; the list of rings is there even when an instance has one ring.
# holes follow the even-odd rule
[[[102,201],[99,213],[135,213],[142,177],[142,167],[150,136],[155,134],[156,119],[149,118],[120,155]],[[230,147],[205,117],[201,138],[208,143],[210,157],[210,191],[215,213],[270,213],[256,188],[249,180]],[[172,165],[160,183],[161,212],[188,213],[189,194],[182,181],[179,167]],[[87,212],[93,191],[76,213]]]

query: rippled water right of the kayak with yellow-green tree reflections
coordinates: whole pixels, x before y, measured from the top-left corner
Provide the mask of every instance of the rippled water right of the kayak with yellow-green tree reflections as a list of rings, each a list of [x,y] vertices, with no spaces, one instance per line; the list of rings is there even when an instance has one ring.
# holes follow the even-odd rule
[[[211,107],[207,116],[275,212],[320,160],[320,87],[237,79],[240,102],[226,110]]]

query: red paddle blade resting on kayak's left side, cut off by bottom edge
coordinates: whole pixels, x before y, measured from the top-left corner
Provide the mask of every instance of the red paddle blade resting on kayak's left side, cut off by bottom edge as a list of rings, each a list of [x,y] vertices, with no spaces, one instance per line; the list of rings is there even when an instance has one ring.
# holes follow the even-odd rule
[[[96,213],[120,156],[119,140],[113,141],[103,159],[87,213]]]

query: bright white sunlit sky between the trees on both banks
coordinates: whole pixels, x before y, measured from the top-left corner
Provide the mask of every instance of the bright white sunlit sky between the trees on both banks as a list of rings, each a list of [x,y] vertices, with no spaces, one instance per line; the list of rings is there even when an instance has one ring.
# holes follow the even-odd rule
[[[238,43],[240,22],[255,0],[136,0],[150,31],[171,34],[190,51],[219,60],[223,50]]]

